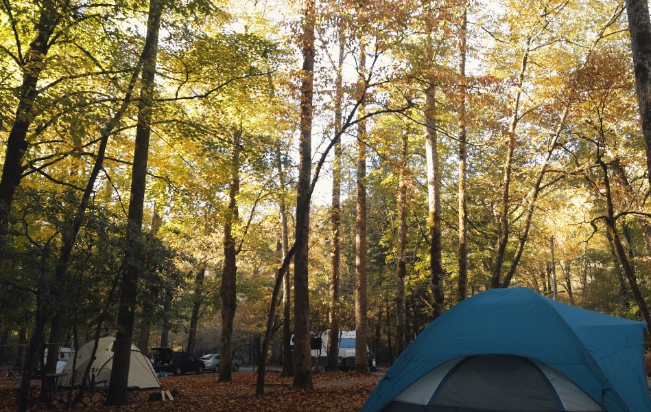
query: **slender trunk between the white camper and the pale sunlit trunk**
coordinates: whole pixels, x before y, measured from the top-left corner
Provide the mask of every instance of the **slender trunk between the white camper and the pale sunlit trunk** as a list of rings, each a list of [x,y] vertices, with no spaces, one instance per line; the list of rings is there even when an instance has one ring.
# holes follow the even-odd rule
[[[407,170],[407,128],[403,130],[402,149],[400,152],[400,183],[398,187],[398,244],[396,260],[398,261],[398,276],[396,279],[396,354],[407,347],[405,325],[405,277],[407,276],[407,185],[409,173]]]

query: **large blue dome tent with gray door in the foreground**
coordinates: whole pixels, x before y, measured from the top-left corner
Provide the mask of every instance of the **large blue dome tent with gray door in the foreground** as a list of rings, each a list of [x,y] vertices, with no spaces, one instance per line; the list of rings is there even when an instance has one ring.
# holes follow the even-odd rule
[[[487,290],[425,328],[362,412],[651,412],[643,331],[527,288]]]

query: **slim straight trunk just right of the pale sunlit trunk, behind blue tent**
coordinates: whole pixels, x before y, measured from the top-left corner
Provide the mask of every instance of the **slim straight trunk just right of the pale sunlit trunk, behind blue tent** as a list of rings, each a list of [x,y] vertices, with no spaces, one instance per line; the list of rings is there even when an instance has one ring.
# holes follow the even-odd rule
[[[461,80],[459,93],[459,161],[458,161],[458,174],[459,174],[459,288],[457,298],[462,301],[468,297],[468,240],[466,235],[468,229],[466,222],[468,221],[468,194],[466,193],[467,176],[467,149],[466,149],[466,27],[468,24],[468,3],[464,1],[463,11],[461,17],[461,27],[459,28],[459,77]]]

